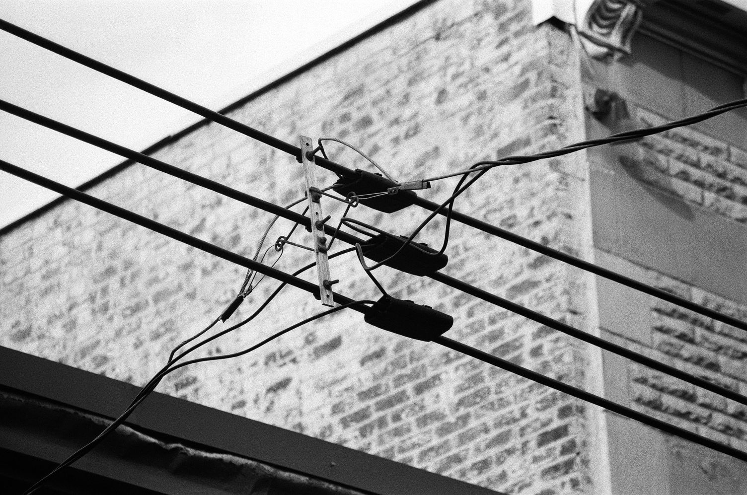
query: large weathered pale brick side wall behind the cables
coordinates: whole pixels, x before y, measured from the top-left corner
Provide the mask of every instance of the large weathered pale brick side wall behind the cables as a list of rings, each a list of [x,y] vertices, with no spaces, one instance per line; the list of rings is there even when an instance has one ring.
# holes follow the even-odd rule
[[[398,178],[562,146],[584,132],[577,54],[565,34],[534,27],[530,16],[528,1],[439,1],[232,117],[289,141],[300,133],[350,140]],[[347,166],[368,167],[334,143],[327,150]],[[303,181],[293,158],[212,124],[154,155],[282,204],[299,196]],[[441,198],[451,187],[434,185],[423,196]],[[588,256],[586,188],[585,162],[566,157],[495,169],[457,208]],[[140,165],[90,192],[244,255],[254,254],[271,218]],[[333,218],[341,207],[324,202]],[[352,214],[397,234],[426,216],[417,208]],[[290,226],[277,225],[272,240]],[[421,239],[440,243],[443,226],[435,220]],[[305,232],[297,235],[309,243]],[[74,202],[22,223],[0,243],[0,344],[137,384],[214,318],[244,277],[238,267]],[[285,251],[277,267],[286,272],[311,260],[306,251]],[[450,275],[580,328],[595,325],[588,281],[570,267],[462,225],[453,225],[447,254]],[[332,261],[332,275],[340,293],[379,297],[350,255]],[[574,385],[589,381],[582,344],[429,278],[388,268],[377,275],[391,295],[451,314],[449,337]],[[234,320],[275,287],[265,279]],[[205,353],[242,349],[321,309],[288,288]],[[352,312],[241,359],[182,368],[159,390],[512,494],[594,491],[594,411],[435,344],[366,326]]]

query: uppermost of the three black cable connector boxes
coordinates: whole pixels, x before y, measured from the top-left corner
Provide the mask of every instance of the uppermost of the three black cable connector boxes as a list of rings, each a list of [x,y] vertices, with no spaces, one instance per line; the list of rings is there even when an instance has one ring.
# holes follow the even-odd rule
[[[388,193],[392,187],[398,187],[394,181],[382,175],[366,172],[365,170],[356,169],[356,177],[350,179],[340,179],[332,190],[340,196],[349,193],[355,193],[356,196],[365,196],[373,193]],[[411,190],[399,191],[397,194],[376,196],[375,198],[361,198],[363,205],[373,208],[374,210],[383,211],[384,213],[394,213],[403,208],[407,208],[415,202],[418,196]]]

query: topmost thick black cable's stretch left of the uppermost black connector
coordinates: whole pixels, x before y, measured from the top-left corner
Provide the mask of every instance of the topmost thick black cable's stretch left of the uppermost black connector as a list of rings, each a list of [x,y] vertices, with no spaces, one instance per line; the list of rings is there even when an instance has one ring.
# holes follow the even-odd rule
[[[114,67],[108,66],[107,64],[99,62],[98,60],[93,60],[93,58],[91,57],[87,57],[81,53],[75,52],[75,50],[66,48],[58,43],[53,42],[52,40],[47,40],[46,38],[41,37],[38,34],[34,34],[31,31],[26,31],[24,28],[20,28],[19,26],[13,25],[3,19],[0,19],[0,29],[13,34],[14,36],[22,38],[29,43],[34,43],[34,45],[41,46],[43,49],[47,49],[50,52],[54,52],[65,58],[68,58],[69,60],[81,63],[82,65],[87,66],[90,69],[96,70],[97,72],[102,72],[102,74],[108,75],[112,78],[117,79],[118,81],[122,81],[125,84],[136,87],[139,90],[143,90],[146,93],[150,93],[153,96],[164,99],[167,102],[173,103],[174,105],[178,105],[179,107],[185,108],[186,110],[190,110],[190,112],[203,116],[205,117],[205,119],[217,122],[220,125],[225,125],[227,128],[240,132],[245,136],[251,137],[252,139],[258,140],[261,143],[279,149],[282,152],[286,152],[289,155],[293,155],[297,160],[301,159],[301,149],[298,146],[294,146],[290,143],[285,143],[285,141],[279,140],[278,138],[270,136],[269,134],[265,134],[262,131],[258,131],[255,128],[251,128],[249,127],[249,125],[237,122],[236,120],[223,115],[223,113],[218,113],[214,110],[203,107],[202,105],[197,105],[195,102],[190,102],[190,100],[182,98],[182,96],[170,93],[167,90],[161,89],[160,87],[143,81],[142,79],[136,78],[134,77],[134,75],[130,75],[119,69],[114,69]],[[324,158],[317,158],[316,164],[332,172],[335,172],[335,174],[341,177],[355,176],[354,172],[351,172],[344,166],[335,164],[335,162],[325,160]]]

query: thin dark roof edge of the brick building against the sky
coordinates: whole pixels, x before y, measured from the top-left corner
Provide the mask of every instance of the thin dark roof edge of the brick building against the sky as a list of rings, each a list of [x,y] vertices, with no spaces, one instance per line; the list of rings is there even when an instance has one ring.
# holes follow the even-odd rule
[[[230,103],[226,107],[221,108],[220,110],[218,110],[218,112],[229,113],[232,110],[236,110],[238,108],[243,107],[244,105],[247,105],[247,103],[251,102],[253,99],[256,99],[259,96],[263,95],[264,93],[267,93],[270,90],[273,90],[276,87],[279,87],[282,84],[285,84],[286,82],[295,78],[297,75],[300,75],[303,72],[306,72],[307,70],[313,68],[314,66],[317,66],[320,63],[323,63],[326,60],[329,60],[330,58],[335,57],[335,55],[338,55],[346,51],[347,49],[350,49],[353,46],[356,46],[358,43],[362,42],[368,37],[371,37],[374,34],[378,34],[379,32],[385,30],[386,28],[392,25],[397,24],[398,22],[402,22],[403,20],[407,19],[409,16],[412,16],[418,11],[423,10],[425,7],[428,7],[430,4],[436,3],[436,1],[438,0],[415,1],[415,3],[409,5],[408,7],[405,7],[403,10],[400,10],[399,12],[394,13],[394,15],[389,16],[388,18],[382,20],[381,22],[377,22],[375,25],[371,26],[370,28],[366,28],[364,31],[360,32],[359,34],[353,35],[349,39],[343,41],[337,46],[334,46],[332,49],[328,49],[326,52],[323,52],[321,55],[318,55],[317,57],[312,58],[308,62],[293,63],[294,68],[283,71],[285,72],[285,74],[280,75],[278,78],[275,78],[268,83],[262,84],[258,89],[253,90],[247,96],[244,96],[236,100],[235,102]],[[300,65],[298,65],[298,63],[300,63]],[[179,131],[176,134],[170,134],[169,136],[164,137],[164,139],[159,140],[157,143],[154,143],[151,146],[148,146],[146,149],[143,149],[142,153],[144,155],[151,155],[152,153],[155,153],[158,150],[163,149],[166,146],[169,146],[171,143],[176,143],[176,141],[181,140],[182,137],[185,137],[188,134],[191,134],[192,132],[196,131],[199,128],[202,128],[204,125],[207,125],[210,122],[212,122],[210,119],[200,119],[194,124],[183,129],[182,131]],[[92,187],[95,187],[98,184],[101,184],[103,181],[107,180],[108,178],[114,177],[114,175],[117,175],[118,173],[122,172],[123,170],[127,169],[129,166],[135,163],[137,162],[133,160],[125,160],[122,163],[111,167],[111,169],[108,169],[102,174],[96,175],[96,177],[90,179],[89,181],[84,182],[80,186],[76,187],[76,189],[81,190],[81,191],[89,190]],[[46,214],[46,212],[52,210],[53,208],[56,208],[58,205],[61,205],[63,202],[68,201],[68,199],[69,198],[67,198],[66,196],[60,196],[59,198],[53,199],[51,202],[47,203],[46,205],[43,205],[40,208],[37,208],[36,210],[31,211],[31,213],[25,214],[23,217],[20,217],[18,220],[13,220],[13,222],[10,222],[9,224],[4,225],[3,227],[0,227],[0,236],[10,233],[10,231],[13,231],[16,228],[19,228],[21,225],[25,224],[26,222],[30,222],[31,220],[34,220],[37,217],[41,217],[43,214]]]

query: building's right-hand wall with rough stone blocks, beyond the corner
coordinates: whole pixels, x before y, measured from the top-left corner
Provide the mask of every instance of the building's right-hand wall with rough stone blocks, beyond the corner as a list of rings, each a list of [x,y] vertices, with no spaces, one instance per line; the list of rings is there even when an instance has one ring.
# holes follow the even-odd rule
[[[660,60],[651,59],[660,56],[659,47],[645,52],[645,43],[639,41],[643,48],[636,56],[648,57],[648,62],[611,63],[607,68],[610,74],[620,75],[623,82],[616,86],[610,79],[610,89],[628,99],[636,126],[681,118],[672,112],[687,109],[688,95],[694,91],[686,77],[667,74],[665,81],[665,76],[657,76],[653,71],[660,69]],[[654,86],[650,93],[626,87],[625,81],[644,72]],[[729,78],[744,80],[737,74]],[[718,78],[715,81],[710,93],[720,99],[712,106],[725,101],[719,95],[725,90],[716,84]],[[678,91],[678,85],[684,89]],[[688,114],[692,113],[690,109]],[[587,119],[591,137],[616,131],[614,125]],[[589,152],[595,262],[747,320],[747,154],[744,146],[719,132],[727,125],[745,127],[747,115],[733,112],[708,125],[677,128],[638,143]],[[744,331],[601,278],[597,287],[603,337],[747,393]],[[604,388],[616,402],[747,451],[747,409],[736,402],[608,353],[604,354]],[[612,417],[609,441],[613,493],[747,490],[745,463],[654,429]]]

